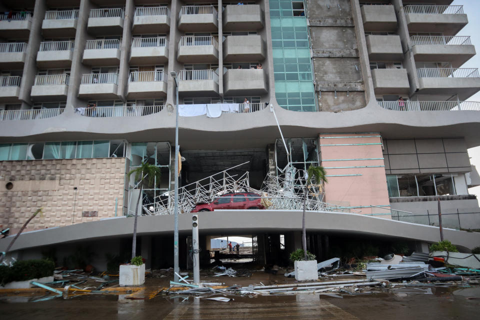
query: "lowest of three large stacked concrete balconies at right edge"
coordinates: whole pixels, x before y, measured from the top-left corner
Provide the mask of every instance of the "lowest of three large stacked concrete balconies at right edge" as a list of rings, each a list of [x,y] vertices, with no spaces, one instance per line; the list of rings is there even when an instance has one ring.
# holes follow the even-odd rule
[[[476,68],[418,68],[419,94],[453,95],[466,100],[480,89]]]

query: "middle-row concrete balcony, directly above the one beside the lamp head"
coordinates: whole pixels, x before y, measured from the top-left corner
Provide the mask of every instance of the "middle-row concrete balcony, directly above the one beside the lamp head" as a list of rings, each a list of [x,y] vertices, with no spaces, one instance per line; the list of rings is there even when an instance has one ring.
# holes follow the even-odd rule
[[[176,59],[184,63],[218,62],[218,40],[213,36],[182,36]]]

